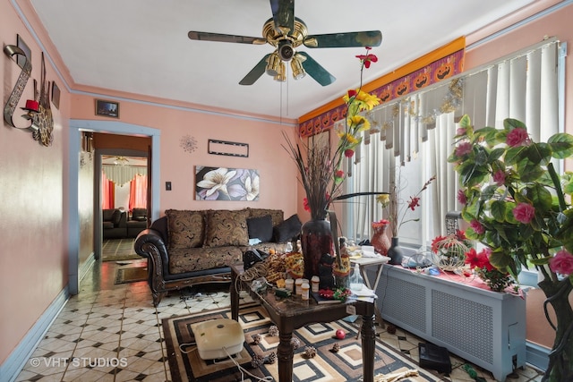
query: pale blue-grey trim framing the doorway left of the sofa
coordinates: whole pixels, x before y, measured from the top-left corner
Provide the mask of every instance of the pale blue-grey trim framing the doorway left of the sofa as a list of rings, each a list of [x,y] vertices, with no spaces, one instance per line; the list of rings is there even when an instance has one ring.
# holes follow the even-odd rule
[[[80,254],[80,211],[79,203],[79,174],[81,132],[108,132],[112,134],[147,136],[151,138],[151,221],[159,217],[159,165],[160,165],[160,136],[158,129],[140,126],[132,123],[116,121],[70,120],[69,142],[69,189],[68,209],[68,285],[70,294],[78,294],[80,290],[79,254]],[[94,211],[95,214],[95,211]]]

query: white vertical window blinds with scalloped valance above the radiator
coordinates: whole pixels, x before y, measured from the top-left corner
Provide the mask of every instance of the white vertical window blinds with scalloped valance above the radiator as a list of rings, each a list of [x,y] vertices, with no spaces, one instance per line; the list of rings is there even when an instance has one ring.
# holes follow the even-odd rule
[[[423,245],[445,233],[446,214],[459,209],[458,179],[447,161],[458,118],[469,115],[475,129],[515,118],[536,141],[559,132],[559,45],[545,41],[372,110],[369,117],[381,132],[365,137],[370,143],[359,151],[346,191],[388,191],[390,174],[405,166],[409,197],[435,174],[422,196],[420,226],[408,225],[405,235],[412,239],[407,242]],[[348,237],[371,237],[371,222],[382,217],[375,198],[369,198],[345,204],[342,225]]]

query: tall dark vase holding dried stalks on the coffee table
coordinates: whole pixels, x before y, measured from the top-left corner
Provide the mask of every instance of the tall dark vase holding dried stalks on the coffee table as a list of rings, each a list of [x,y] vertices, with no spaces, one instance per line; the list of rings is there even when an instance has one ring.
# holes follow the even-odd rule
[[[304,278],[320,276],[319,264],[325,253],[334,253],[330,223],[327,220],[309,220],[301,229],[301,249],[304,259]]]

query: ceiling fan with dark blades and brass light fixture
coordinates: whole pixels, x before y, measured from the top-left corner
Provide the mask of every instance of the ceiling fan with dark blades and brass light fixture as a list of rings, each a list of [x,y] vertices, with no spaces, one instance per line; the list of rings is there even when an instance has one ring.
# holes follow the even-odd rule
[[[361,32],[329,33],[308,35],[304,21],[295,17],[295,0],[269,0],[272,18],[262,27],[262,38],[226,35],[220,33],[191,30],[187,36],[192,40],[232,42],[239,44],[262,45],[275,47],[274,52],[262,57],[252,68],[241,85],[252,85],[263,73],[272,76],[276,81],[286,81],[286,64],[290,62],[295,80],[308,73],[322,86],[336,81],[334,76],[324,69],[305,52],[297,52],[300,46],[317,47],[378,47],[382,42],[380,30]]]

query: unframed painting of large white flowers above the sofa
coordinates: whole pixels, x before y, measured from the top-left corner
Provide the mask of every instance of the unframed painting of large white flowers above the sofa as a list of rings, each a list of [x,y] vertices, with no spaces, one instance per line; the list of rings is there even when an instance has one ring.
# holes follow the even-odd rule
[[[244,168],[196,166],[195,199],[258,200],[259,172]]]

